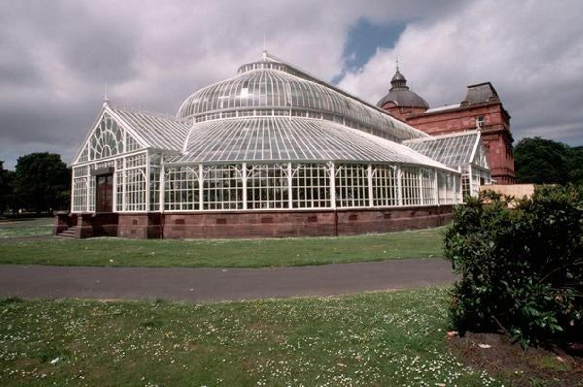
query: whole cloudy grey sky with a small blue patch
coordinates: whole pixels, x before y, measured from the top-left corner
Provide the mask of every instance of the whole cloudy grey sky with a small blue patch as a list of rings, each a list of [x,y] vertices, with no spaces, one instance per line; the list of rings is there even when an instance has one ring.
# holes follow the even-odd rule
[[[364,100],[399,58],[431,106],[491,81],[515,140],[583,145],[583,2],[0,0],[0,160],[71,158],[101,107],[174,114],[264,45]]]

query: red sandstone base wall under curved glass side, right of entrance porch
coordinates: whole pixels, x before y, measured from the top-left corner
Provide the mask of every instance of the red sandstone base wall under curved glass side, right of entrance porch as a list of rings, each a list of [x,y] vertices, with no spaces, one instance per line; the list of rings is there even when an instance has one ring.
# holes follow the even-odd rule
[[[451,219],[451,205],[386,210],[164,214],[163,237],[356,235],[437,227]]]

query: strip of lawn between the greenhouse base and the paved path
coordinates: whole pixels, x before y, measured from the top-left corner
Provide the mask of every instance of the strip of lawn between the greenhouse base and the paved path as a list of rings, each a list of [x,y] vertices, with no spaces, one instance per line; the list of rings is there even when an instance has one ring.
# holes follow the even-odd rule
[[[269,267],[442,256],[445,227],[285,239],[0,239],[0,264]]]

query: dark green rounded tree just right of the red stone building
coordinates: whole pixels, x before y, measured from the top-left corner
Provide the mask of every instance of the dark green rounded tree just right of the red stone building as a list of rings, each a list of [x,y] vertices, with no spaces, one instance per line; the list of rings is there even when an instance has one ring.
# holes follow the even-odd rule
[[[514,148],[517,183],[566,184],[571,177],[568,169],[568,145],[559,141],[522,139]]]

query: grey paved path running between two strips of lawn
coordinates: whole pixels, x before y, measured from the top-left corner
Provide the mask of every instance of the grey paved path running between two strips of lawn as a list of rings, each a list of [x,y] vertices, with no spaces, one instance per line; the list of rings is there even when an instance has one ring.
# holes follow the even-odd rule
[[[449,262],[216,269],[0,265],[0,296],[220,301],[331,296],[452,282]]]

